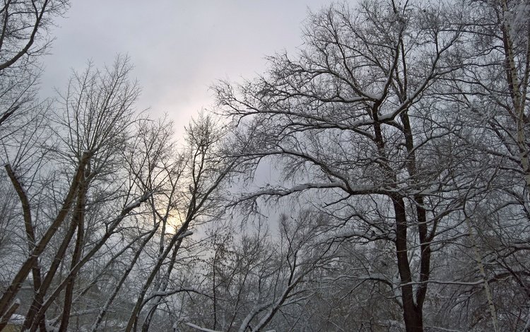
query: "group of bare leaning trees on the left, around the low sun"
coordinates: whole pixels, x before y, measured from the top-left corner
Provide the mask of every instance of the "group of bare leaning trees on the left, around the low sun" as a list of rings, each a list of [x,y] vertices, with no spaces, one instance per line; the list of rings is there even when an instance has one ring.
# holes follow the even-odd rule
[[[177,146],[171,121],[137,112],[126,57],[88,64],[56,100],[38,100],[38,56],[68,6],[0,10],[0,330],[147,331],[187,289],[171,276],[194,227],[216,217],[235,160],[209,116]]]

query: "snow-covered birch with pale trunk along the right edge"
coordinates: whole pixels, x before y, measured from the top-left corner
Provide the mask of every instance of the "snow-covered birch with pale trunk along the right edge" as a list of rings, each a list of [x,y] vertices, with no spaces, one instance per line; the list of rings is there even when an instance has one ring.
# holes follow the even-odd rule
[[[482,172],[493,173],[488,191],[467,204],[467,220],[475,234],[479,263],[490,294],[484,299],[466,291],[476,307],[489,309],[473,323],[490,320],[511,329],[530,326],[530,280],[526,259],[529,237],[528,132],[530,76],[530,20],[528,1],[469,1],[473,15],[466,17],[466,45],[459,48],[462,66],[449,76],[447,95],[461,109],[462,124],[473,135],[462,136],[483,154]],[[485,285],[488,288],[488,285]],[[479,293],[480,294],[480,293]],[[506,298],[512,302],[507,304]],[[478,309],[479,312],[481,309]],[[497,312],[497,314],[495,314]],[[483,327],[485,328],[485,327]]]

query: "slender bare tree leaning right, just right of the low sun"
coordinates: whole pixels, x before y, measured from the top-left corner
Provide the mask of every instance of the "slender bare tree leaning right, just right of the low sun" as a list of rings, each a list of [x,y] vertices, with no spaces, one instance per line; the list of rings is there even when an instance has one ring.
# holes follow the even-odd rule
[[[155,216],[166,225],[167,219],[174,214],[175,232],[160,242],[160,251],[143,282],[126,331],[136,331],[141,309],[151,302],[142,326],[143,331],[148,330],[152,314],[163,297],[177,292],[167,287],[184,238],[192,234],[194,225],[219,213],[223,184],[237,160],[225,157],[220,149],[222,143],[223,130],[216,126],[213,118],[199,117],[187,128],[187,146],[182,152],[184,162],[179,164],[183,168],[177,169],[177,172],[171,168],[165,170],[170,189],[162,200],[162,208],[155,207]],[[165,232],[162,237],[165,237]],[[169,261],[166,261],[168,257]]]

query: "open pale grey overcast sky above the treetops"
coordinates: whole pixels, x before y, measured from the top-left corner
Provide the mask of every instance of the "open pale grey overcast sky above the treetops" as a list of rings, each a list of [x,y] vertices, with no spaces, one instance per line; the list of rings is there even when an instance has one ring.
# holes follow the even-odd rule
[[[112,64],[129,54],[142,95],[138,107],[167,112],[177,130],[213,102],[218,79],[252,78],[266,55],[296,52],[308,8],[330,0],[90,0],[72,1],[53,32],[42,88],[64,90],[71,69]]]

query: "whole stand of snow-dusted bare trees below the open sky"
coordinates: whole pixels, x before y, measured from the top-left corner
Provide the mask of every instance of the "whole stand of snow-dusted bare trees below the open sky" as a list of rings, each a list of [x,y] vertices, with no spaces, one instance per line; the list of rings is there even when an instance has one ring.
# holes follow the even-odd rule
[[[40,97],[69,6],[0,5],[0,331],[530,331],[529,0],[329,4],[184,138]]]

